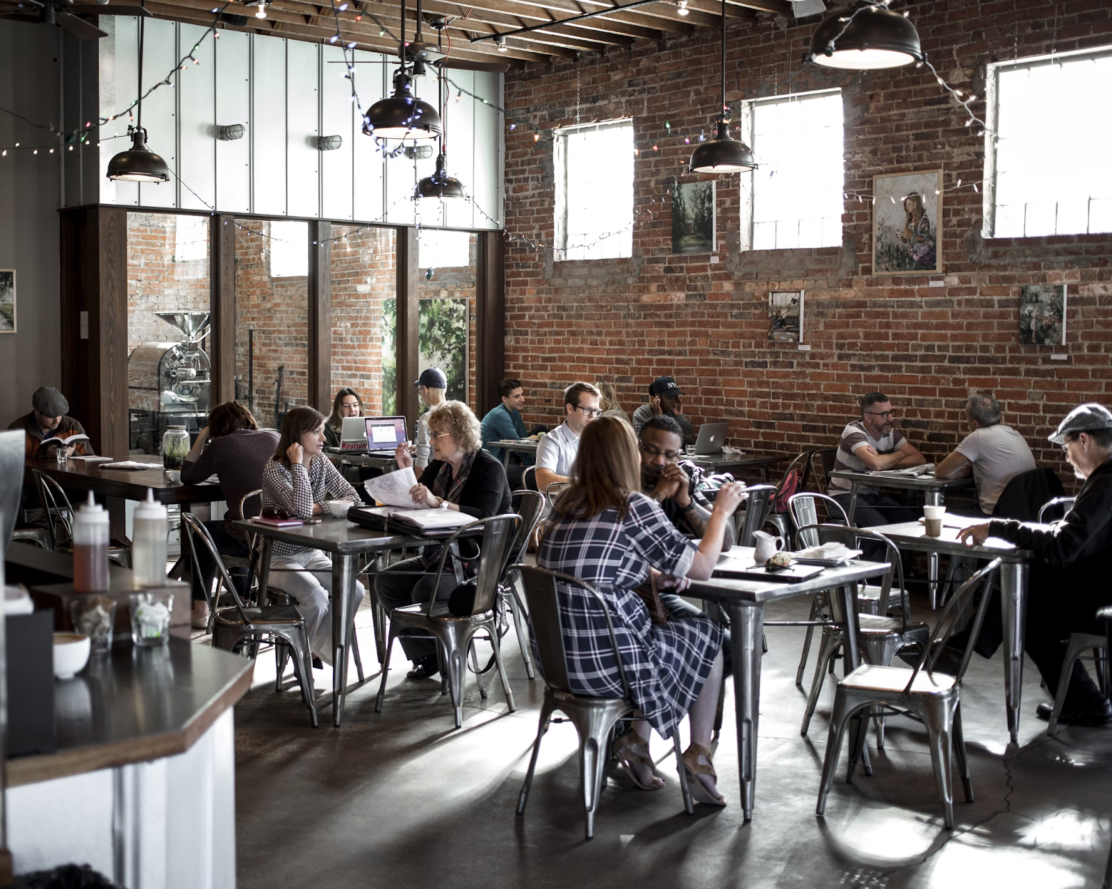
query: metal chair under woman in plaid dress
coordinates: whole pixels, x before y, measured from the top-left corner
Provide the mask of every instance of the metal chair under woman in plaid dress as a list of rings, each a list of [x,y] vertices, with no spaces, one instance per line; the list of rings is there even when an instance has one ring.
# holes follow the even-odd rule
[[[540,705],[540,719],[537,727],[537,738],[533,742],[533,756],[529,769],[525,773],[525,782],[517,798],[517,813],[525,815],[525,806],[529,801],[529,788],[533,786],[533,773],[537,767],[537,755],[540,752],[540,741],[552,722],[568,721],[575,726],[579,735],[579,776],[583,790],[583,807],[587,818],[586,838],[594,839],[595,812],[598,810],[598,798],[606,785],[606,761],[608,759],[609,737],[619,719],[628,718],[637,712],[629,693],[625,668],[618,652],[617,638],[614,636],[614,623],[606,600],[598,591],[578,578],[546,571],[543,568],[530,568],[515,565],[522,573],[525,587],[525,598],[529,603],[529,623],[536,639],[537,655],[540,658],[540,671],[545,678],[545,699]],[[564,650],[563,615],[556,582],[567,583],[586,590],[598,603],[599,611],[606,620],[610,645],[614,647],[614,661],[617,665],[622,681],[620,698],[594,698],[576,695],[570,690],[567,672],[567,657]],[[556,711],[567,719],[554,719]],[[679,788],[684,797],[684,810],[694,815],[691,791],[687,788],[687,775],[684,769],[683,755],[679,751],[679,732],[672,736],[672,746],[676,753],[676,770],[679,772]]]

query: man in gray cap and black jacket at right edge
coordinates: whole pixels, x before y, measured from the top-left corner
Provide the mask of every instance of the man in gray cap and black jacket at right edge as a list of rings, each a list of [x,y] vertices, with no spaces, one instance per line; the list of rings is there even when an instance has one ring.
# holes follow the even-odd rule
[[[961,540],[983,543],[997,537],[1031,550],[1030,595],[1024,650],[1042,673],[1046,688],[1058,689],[1072,632],[1104,635],[1096,609],[1112,605],[1112,412],[1103,404],[1074,408],[1050,440],[1061,444],[1066,461],[1083,480],[1069,515],[1053,525],[993,519],[974,525]],[[999,620],[997,609],[989,616]],[[986,616],[986,617],[989,617]],[[997,639],[999,635],[999,639]],[[1003,633],[989,625],[977,639],[976,650],[991,657]],[[1040,703],[1036,715],[1049,719],[1049,703]],[[1072,726],[1112,722],[1112,705],[1076,662],[1059,721]]]

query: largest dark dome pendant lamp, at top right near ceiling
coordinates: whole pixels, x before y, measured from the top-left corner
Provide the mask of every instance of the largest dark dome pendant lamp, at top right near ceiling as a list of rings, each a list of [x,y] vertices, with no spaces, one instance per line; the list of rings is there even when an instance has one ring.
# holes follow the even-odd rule
[[[873,71],[922,62],[923,48],[911,19],[888,9],[886,0],[857,0],[822,20],[808,58],[825,68]]]

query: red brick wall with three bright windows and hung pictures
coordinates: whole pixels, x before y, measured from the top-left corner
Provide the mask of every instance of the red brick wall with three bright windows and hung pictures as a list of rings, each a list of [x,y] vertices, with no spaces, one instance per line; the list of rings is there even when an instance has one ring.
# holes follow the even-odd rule
[[[1112,44],[1112,0],[906,7],[929,58],[966,93],[984,94],[986,62]],[[856,413],[856,397],[880,389],[902,410],[912,441],[941,458],[964,433],[965,396],[991,390],[1036,459],[1069,475],[1045,436],[1078,402],[1112,401],[1112,236],[982,239],[983,196],[967,187],[984,176],[976,128],[963,126],[959,106],[925,68],[801,66],[815,21],[729,19],[728,100],[840,86],[846,191],[872,193],[876,173],[940,167],[946,188],[963,179],[966,187],[945,194],[943,274],[872,274],[872,207],[853,200],[841,248],[741,251],[736,176],[717,179],[721,261],[671,253],[671,206],[662,194],[693,146],[664,124],[709,131],[719,90],[712,30],[510,72],[510,232],[552,242],[553,128],[633,117],[638,138],[659,148],[642,143],[635,166],[635,209],[651,212],[635,226],[633,258],[553,262],[550,251],[507,244],[506,372],[526,386],[527,420],[558,422],[559,389],[575,379],[613,381],[632,411],[647,400],[653,377],[668,373],[689,393],[695,422],[728,418],[735,444],[798,451],[832,446]],[[975,108],[983,116],[983,101]],[[539,141],[526,121],[540,128]],[[944,286],[930,287],[932,279]],[[1065,348],[1019,344],[1019,288],[1042,282],[1069,284]],[[806,291],[810,352],[766,341],[774,289]],[[1051,351],[1069,359],[1052,362]]]

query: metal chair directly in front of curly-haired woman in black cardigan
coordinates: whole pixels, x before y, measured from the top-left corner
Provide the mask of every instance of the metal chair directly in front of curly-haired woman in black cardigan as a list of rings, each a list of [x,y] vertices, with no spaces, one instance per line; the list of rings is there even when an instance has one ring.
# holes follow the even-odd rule
[[[447,686],[446,690],[451,693],[451,705],[456,711],[456,728],[464,723],[464,677],[465,659],[471,640],[475,635],[486,631],[494,648],[495,663],[498,666],[498,676],[502,678],[502,689],[506,695],[506,703],[509,711],[514,712],[514,692],[509,690],[509,680],[506,678],[506,669],[502,663],[502,649],[498,637],[498,618],[495,613],[495,598],[498,595],[498,582],[506,568],[507,557],[510,546],[515,539],[518,526],[522,522],[520,516],[507,512],[503,516],[492,516],[487,519],[478,519],[468,525],[457,528],[443,543],[440,549],[440,563],[434,573],[436,586],[429,597],[428,605],[409,605],[403,608],[395,608],[390,612],[390,636],[386,642],[386,658],[383,661],[383,681],[378,686],[378,697],[375,700],[375,712],[383,711],[383,698],[386,696],[386,678],[390,671],[390,650],[394,648],[394,640],[404,630],[418,630],[423,635],[436,637],[439,643],[440,653],[440,676]],[[460,535],[474,535],[481,529],[483,542],[479,546],[479,570],[475,581],[475,603],[471,606],[469,615],[451,615],[448,611],[447,602],[437,601],[436,593],[439,591],[440,582],[447,578],[447,582],[455,583],[453,575],[445,575],[444,566],[448,552]],[[414,572],[414,580],[421,575]],[[486,698],[486,689],[483,687],[483,677],[479,671],[475,672],[475,681],[478,683],[479,693]]]

